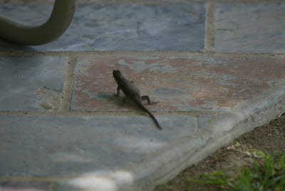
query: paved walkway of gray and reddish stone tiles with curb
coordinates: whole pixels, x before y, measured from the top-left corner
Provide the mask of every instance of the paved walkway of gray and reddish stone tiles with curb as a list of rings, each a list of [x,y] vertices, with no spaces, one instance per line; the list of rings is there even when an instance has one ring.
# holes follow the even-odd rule
[[[0,2],[29,24],[52,9]],[[78,1],[58,40],[0,40],[0,190],[152,190],[276,118],[285,4],[236,2]],[[162,131],[114,97],[113,69],[160,101]]]

